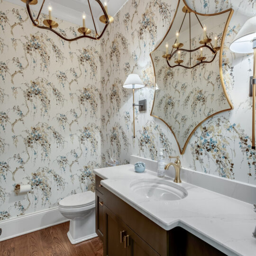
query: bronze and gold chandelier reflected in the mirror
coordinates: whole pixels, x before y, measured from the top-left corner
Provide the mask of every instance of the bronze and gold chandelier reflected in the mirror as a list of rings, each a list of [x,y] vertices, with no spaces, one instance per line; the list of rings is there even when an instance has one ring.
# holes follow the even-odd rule
[[[186,6],[183,7],[182,11],[184,13],[184,17],[183,17],[183,21],[181,23],[180,28],[176,31],[176,34],[175,34],[176,35],[176,39],[175,39],[174,44],[172,46],[172,51],[169,54],[169,52],[168,52],[168,44],[166,44],[165,45],[166,52],[165,52],[165,54],[162,57],[166,59],[166,62],[168,64],[168,66],[171,67],[171,68],[174,68],[176,66],[181,66],[183,68],[191,69],[191,68],[194,68],[197,65],[200,65],[202,63],[211,63],[211,62],[213,62],[213,60],[215,59],[215,57],[217,55],[217,52],[220,49],[220,47],[217,45],[218,38],[217,37],[214,38],[214,45],[212,45],[211,44],[211,41],[212,41],[211,38],[209,38],[207,36],[205,25],[202,26],[200,19],[198,18],[197,14],[194,12],[194,15],[196,16],[196,18],[197,18],[201,28],[203,29],[203,39],[201,39],[200,42],[199,42],[201,44],[201,46],[199,46],[199,47],[197,47],[195,49],[191,49],[192,48],[192,46],[191,46],[191,12],[192,11],[190,9],[188,9]],[[179,41],[179,36],[180,36],[180,31],[181,31],[182,26],[183,26],[184,19],[185,19],[187,14],[189,15],[189,41],[190,41],[190,49],[183,49],[182,48],[183,47],[183,43],[181,43]],[[206,61],[206,57],[203,55],[203,48],[208,48],[212,52],[213,57],[212,57],[212,59],[210,61]],[[195,51],[197,51],[199,49],[200,49],[201,55],[197,57],[197,61],[198,62],[196,64],[194,64],[194,65],[191,65],[191,53],[195,52]],[[189,52],[189,54],[190,54],[190,65],[189,66],[185,66],[185,65],[182,64],[183,60],[181,59],[181,52]],[[169,63],[169,61],[172,59],[172,57],[174,55],[176,55],[176,53],[178,53],[178,59],[176,59],[174,61],[175,65],[171,65]]]

